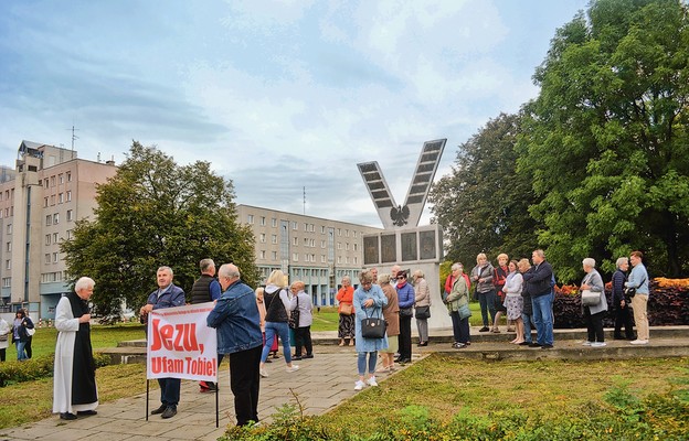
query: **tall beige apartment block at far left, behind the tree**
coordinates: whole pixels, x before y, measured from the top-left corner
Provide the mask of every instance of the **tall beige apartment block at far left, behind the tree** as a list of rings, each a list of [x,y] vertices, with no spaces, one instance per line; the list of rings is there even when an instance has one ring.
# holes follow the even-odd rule
[[[76,151],[22,141],[14,171],[0,171],[0,304],[29,308],[34,319],[54,319],[68,292],[60,243],[75,220],[93,216],[96,185],[117,172],[77,159]]]

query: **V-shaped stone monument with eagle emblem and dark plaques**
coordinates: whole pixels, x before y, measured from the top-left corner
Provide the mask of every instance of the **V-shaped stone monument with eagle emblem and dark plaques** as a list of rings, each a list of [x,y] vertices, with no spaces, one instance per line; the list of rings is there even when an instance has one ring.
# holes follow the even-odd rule
[[[443,232],[439,225],[418,226],[435,172],[447,139],[424,142],[404,205],[398,205],[377,161],[357,164],[384,230],[363,236],[363,265],[390,271],[394,265],[411,273],[425,275],[431,288],[428,329],[452,327],[452,320],[441,297]],[[444,282],[444,281],[443,281]],[[414,327],[414,326],[412,326]]]

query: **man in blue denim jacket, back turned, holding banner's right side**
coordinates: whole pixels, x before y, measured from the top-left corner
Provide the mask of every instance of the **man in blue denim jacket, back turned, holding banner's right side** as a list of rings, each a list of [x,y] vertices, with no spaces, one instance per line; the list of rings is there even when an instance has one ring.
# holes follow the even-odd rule
[[[223,293],[206,323],[218,331],[218,353],[230,354],[230,389],[237,426],[258,422],[261,315],[254,290],[240,280],[240,269],[225,263],[218,271]]]

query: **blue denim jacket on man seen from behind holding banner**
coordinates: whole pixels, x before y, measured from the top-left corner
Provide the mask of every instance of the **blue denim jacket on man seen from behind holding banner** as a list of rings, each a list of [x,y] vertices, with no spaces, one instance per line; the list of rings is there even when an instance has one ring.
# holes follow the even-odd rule
[[[256,295],[254,290],[240,280],[227,287],[205,321],[218,332],[219,354],[263,346]]]

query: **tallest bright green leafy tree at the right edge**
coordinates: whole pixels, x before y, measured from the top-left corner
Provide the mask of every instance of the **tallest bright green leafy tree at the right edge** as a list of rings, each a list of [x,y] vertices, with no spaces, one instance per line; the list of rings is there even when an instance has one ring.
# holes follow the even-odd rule
[[[524,106],[520,173],[562,280],[583,257],[689,261],[689,17],[678,0],[593,0],[556,32]],[[682,270],[683,265],[683,270]]]

